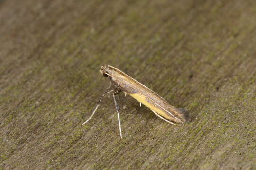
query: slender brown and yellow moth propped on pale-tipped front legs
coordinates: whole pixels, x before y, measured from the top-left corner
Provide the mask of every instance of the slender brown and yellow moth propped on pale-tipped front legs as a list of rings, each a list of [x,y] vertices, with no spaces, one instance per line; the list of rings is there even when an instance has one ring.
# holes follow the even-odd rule
[[[121,130],[121,123],[119,117],[119,105],[115,98],[115,95],[119,94],[121,91],[125,93],[125,95],[130,95],[131,97],[135,98],[138,102],[144,104],[148,107],[156,116],[165,120],[170,124],[181,123],[183,124],[186,122],[185,118],[185,110],[175,108],[174,106],[170,105],[163,97],[159,96],[154,91],[147,88],[145,85],[139,83],[137,80],[133,79],[132,77],[128,76],[121,70],[114,68],[110,65],[103,65],[100,69],[101,74],[104,77],[108,77],[110,79],[110,86],[111,84],[114,85],[114,88],[111,90],[106,91],[101,95],[101,98],[92,112],[92,115],[89,119],[87,119],[83,124],[87,123],[94,113],[96,112],[97,108],[99,107],[102,98],[107,93],[112,93],[117,115],[118,115],[118,122],[119,122],[119,132],[122,139],[122,130]]]

